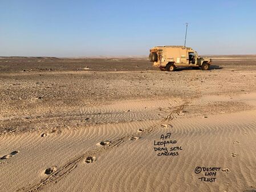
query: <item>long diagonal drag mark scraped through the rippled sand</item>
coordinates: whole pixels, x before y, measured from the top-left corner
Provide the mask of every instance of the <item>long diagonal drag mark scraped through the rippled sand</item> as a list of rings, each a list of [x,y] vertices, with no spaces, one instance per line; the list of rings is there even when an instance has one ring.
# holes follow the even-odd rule
[[[152,125],[147,129],[144,129],[143,132],[138,132],[136,135],[129,135],[127,137],[118,138],[114,141],[109,142],[109,144],[102,145],[101,148],[92,149],[74,158],[73,160],[67,162],[67,164],[60,166],[59,169],[56,169],[55,171],[53,171],[51,174],[48,175],[47,178],[42,179],[40,182],[27,185],[21,189],[18,189],[17,191],[29,191],[29,192],[38,191],[38,190],[42,190],[44,186],[50,183],[58,182],[60,179],[62,179],[67,174],[69,174],[72,170],[74,170],[78,166],[79,162],[83,161],[83,162],[86,162],[86,164],[90,164],[91,162],[96,161],[96,156],[98,156],[100,153],[116,148],[119,145],[123,144],[125,141],[137,140],[142,136],[145,136],[147,134],[154,132],[157,129],[157,127],[162,123],[173,120],[174,115],[177,115],[177,113],[181,112],[186,105],[188,105],[188,103],[182,104],[172,109],[168,116],[164,117],[164,119],[162,119],[160,122],[156,123],[155,125]],[[101,145],[101,142],[100,142],[100,145]]]

